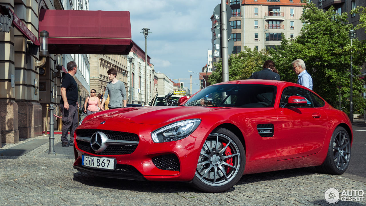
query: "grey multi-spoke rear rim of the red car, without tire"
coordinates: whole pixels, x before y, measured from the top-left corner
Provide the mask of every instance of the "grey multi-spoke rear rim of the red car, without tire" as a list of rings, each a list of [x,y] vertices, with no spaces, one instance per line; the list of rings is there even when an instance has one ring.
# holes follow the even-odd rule
[[[339,131],[333,141],[333,160],[336,168],[344,170],[350,162],[351,143],[346,132]]]

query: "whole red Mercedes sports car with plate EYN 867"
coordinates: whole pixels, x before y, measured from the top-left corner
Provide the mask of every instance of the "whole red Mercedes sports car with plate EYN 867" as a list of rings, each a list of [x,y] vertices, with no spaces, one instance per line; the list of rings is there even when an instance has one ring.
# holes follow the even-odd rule
[[[75,131],[74,168],[222,192],[243,174],[307,166],[342,174],[350,162],[350,119],[301,85],[229,81],[180,103],[88,115]]]

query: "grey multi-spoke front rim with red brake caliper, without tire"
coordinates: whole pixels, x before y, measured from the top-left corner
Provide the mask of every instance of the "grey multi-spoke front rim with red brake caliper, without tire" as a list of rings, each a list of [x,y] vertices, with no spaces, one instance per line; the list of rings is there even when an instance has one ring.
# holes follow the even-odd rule
[[[225,185],[235,178],[240,161],[236,143],[226,135],[213,133],[202,146],[195,176],[207,185]]]

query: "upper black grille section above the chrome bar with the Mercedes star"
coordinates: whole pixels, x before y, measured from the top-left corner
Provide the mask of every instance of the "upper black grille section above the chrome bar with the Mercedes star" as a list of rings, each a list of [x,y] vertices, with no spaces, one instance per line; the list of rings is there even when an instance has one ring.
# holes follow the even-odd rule
[[[102,129],[78,129],[78,130],[76,130],[76,136],[91,138],[91,136],[95,132],[103,132],[108,137],[108,139],[111,139],[111,140],[139,141],[138,135],[134,134],[134,133],[118,132],[118,131],[110,131],[110,130],[102,130]]]

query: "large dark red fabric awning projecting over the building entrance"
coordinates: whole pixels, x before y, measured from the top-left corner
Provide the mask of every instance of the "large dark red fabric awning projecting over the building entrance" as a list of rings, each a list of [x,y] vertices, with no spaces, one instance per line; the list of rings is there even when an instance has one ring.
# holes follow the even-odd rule
[[[50,54],[128,54],[133,46],[129,11],[40,11]]]

